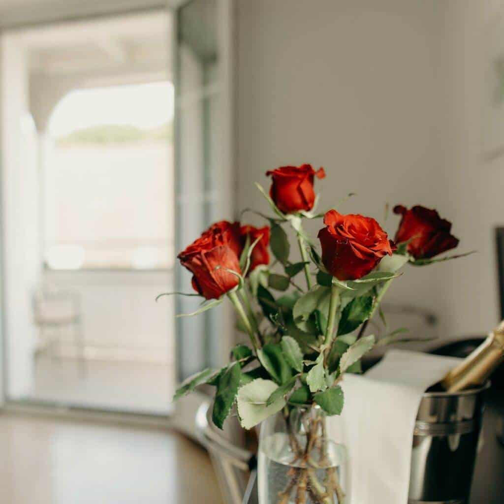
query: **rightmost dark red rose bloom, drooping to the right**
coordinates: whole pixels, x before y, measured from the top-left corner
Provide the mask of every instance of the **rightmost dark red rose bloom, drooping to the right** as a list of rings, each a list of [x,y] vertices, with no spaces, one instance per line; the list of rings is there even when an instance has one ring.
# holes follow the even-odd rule
[[[397,205],[394,213],[402,215],[396,242],[410,240],[407,250],[415,259],[429,259],[459,244],[458,238],[450,234],[452,223],[440,218],[435,210],[420,205],[407,210]]]

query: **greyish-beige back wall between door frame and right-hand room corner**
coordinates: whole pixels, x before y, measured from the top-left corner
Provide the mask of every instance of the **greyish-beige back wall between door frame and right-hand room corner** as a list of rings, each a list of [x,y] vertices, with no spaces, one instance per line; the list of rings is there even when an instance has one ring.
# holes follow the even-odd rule
[[[253,182],[309,162],[328,174],[316,182],[321,209],[356,192],[341,210],[383,221],[385,202],[422,203],[461,234],[445,197],[445,15],[437,0],[240,0],[238,207],[267,210]],[[397,222],[389,217],[392,234]],[[442,314],[446,278],[444,265],[410,268],[388,300]]]

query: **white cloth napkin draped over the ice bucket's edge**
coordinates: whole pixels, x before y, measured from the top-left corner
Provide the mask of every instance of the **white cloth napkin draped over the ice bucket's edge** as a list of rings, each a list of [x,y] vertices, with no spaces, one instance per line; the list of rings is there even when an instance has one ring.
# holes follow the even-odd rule
[[[345,406],[329,434],[348,449],[345,504],[405,504],[413,428],[423,392],[460,359],[390,350],[364,375],[345,374]]]

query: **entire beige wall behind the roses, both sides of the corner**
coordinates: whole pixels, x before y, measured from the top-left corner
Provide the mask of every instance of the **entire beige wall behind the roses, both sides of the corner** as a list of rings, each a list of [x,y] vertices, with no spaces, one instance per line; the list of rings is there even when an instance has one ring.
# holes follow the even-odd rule
[[[323,165],[320,209],[384,221],[421,203],[454,223],[465,259],[410,268],[389,300],[439,316],[440,336],[498,317],[493,226],[504,173],[482,159],[487,2],[238,1],[238,202],[282,164]],[[398,218],[386,228],[394,234]],[[316,233],[317,227],[311,229]]]

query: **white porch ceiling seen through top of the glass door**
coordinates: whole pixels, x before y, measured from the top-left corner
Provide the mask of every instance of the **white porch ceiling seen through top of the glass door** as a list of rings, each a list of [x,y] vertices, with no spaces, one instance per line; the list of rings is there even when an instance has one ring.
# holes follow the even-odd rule
[[[28,51],[32,74],[167,74],[171,25],[168,13],[152,12],[27,28],[12,36]]]

